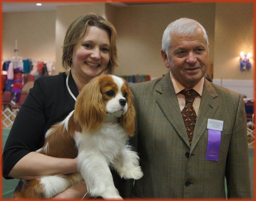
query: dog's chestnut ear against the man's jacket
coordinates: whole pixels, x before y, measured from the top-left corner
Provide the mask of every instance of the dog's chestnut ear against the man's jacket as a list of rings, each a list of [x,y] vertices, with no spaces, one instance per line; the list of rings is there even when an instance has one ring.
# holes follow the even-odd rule
[[[132,91],[130,90],[127,82],[125,82],[125,86],[127,87],[127,112],[121,116],[121,125],[128,132],[129,136],[132,137],[135,131],[135,109],[132,104]]]

